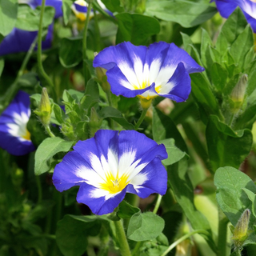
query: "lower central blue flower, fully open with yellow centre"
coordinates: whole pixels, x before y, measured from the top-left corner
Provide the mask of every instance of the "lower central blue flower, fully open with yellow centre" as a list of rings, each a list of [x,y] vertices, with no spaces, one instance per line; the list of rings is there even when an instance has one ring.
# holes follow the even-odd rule
[[[109,214],[126,192],[146,198],[165,194],[166,148],[134,130],[98,130],[94,138],[79,141],[54,170],[60,192],[80,186],[77,201],[94,214]]]

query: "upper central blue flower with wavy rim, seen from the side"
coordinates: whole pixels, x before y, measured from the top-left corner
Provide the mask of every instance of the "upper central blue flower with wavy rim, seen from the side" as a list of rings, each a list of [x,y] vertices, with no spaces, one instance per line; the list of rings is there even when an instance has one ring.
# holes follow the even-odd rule
[[[94,67],[106,69],[113,94],[127,98],[163,96],[176,102],[190,94],[190,73],[202,72],[185,50],[174,43],[155,42],[149,47],[122,42],[102,50]]]

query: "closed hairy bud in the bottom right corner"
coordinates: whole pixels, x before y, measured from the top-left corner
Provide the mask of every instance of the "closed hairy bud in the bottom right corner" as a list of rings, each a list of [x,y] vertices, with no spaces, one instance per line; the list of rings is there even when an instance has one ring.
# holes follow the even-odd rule
[[[242,246],[242,243],[248,236],[248,226],[250,222],[250,210],[246,209],[238,220],[237,225],[234,227],[233,240],[234,245],[237,247]]]

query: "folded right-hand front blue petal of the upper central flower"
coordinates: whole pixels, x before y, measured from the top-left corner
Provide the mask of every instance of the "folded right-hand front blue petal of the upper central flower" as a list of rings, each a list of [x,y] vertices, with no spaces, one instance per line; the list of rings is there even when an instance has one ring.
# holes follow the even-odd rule
[[[160,96],[170,98],[175,102],[184,102],[189,98],[191,92],[191,79],[182,62],[178,64],[177,69],[169,82],[173,83],[174,87],[167,94],[159,93]]]

